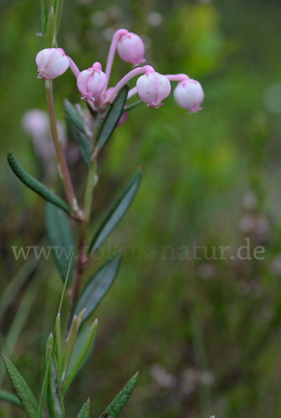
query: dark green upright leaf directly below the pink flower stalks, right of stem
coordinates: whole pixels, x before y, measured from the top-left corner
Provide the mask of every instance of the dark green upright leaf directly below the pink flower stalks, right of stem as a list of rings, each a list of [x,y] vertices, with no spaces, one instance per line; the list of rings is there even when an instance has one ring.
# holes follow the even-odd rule
[[[129,86],[123,86],[121,90],[117,93],[116,98],[110,105],[105,119],[100,127],[100,132],[98,134],[98,139],[96,142],[96,150],[99,151],[103,146],[105,146],[110,135],[114,131],[121,115],[123,113],[123,107],[126,103],[127,95],[129,91]]]

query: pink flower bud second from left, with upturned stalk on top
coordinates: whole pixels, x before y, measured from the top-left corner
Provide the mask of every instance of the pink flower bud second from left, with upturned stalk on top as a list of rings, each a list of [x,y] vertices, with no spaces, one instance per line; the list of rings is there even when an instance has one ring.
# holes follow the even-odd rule
[[[105,72],[102,72],[100,63],[94,63],[93,67],[81,71],[77,77],[77,87],[83,100],[94,102],[102,93],[107,82]]]

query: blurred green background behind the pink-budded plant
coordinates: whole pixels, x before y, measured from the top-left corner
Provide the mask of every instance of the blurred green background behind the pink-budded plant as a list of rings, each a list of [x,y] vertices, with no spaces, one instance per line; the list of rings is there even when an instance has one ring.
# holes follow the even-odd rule
[[[97,219],[139,165],[143,180],[105,245],[123,247],[124,259],[96,311],[93,354],[70,390],[67,416],[89,395],[98,416],[139,370],[124,418],[280,417],[280,2],[65,3],[59,46],[80,69],[93,61],[105,67],[113,31],[126,27],[142,36],[157,71],[186,72],[205,91],[203,111],[192,116],[173,95],[158,110],[132,110],[102,156]],[[27,171],[58,192],[61,186],[36,162],[21,127],[27,110],[46,109],[34,61],[38,1],[1,0],[0,22],[1,289],[14,281],[18,290],[13,302],[6,298],[1,346],[39,391],[62,286],[51,259],[13,256],[12,246],[44,245],[45,225],[43,201],[8,167],[9,148]],[[128,70],[116,56],[111,82]],[[54,89],[63,119],[63,98],[79,102],[72,73]],[[79,196],[80,166],[72,170]],[[263,260],[231,258],[245,238],[251,254],[265,248]],[[182,247],[191,251],[195,243],[206,254],[201,248],[199,259],[183,258]],[[212,257],[220,246],[230,247],[225,260]],[[1,387],[10,390],[6,377]],[[0,417],[22,416],[0,403]]]

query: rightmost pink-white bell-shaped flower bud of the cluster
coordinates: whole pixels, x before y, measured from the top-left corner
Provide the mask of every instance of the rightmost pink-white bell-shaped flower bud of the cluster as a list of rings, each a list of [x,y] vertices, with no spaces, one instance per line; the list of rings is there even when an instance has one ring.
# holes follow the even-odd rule
[[[184,80],[174,89],[174,99],[180,107],[188,109],[188,114],[192,114],[202,110],[199,106],[204,99],[204,91],[199,82],[192,79]]]

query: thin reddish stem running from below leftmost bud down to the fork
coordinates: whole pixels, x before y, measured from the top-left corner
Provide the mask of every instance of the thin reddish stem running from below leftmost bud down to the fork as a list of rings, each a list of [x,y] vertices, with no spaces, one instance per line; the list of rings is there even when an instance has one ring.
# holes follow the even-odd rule
[[[70,173],[68,171],[68,166],[66,164],[66,158],[63,154],[63,148],[61,146],[61,139],[59,137],[59,132],[56,125],[56,113],[54,109],[54,95],[53,95],[53,87],[52,87],[52,80],[46,80],[45,82],[46,88],[46,98],[47,98],[47,107],[49,111],[50,117],[50,127],[52,133],[52,139],[54,141],[54,148],[56,149],[56,157],[59,162],[59,172],[61,175],[61,180],[63,182],[63,187],[66,192],[66,196],[68,198],[68,203],[70,205],[71,210],[73,211],[73,218],[77,220],[77,222],[83,221],[83,213],[82,210],[79,209],[77,199],[75,196],[75,192],[73,189],[73,184],[71,182]]]

